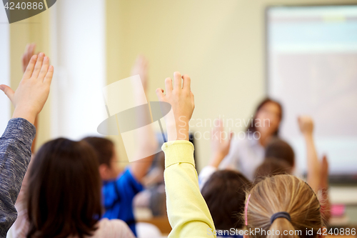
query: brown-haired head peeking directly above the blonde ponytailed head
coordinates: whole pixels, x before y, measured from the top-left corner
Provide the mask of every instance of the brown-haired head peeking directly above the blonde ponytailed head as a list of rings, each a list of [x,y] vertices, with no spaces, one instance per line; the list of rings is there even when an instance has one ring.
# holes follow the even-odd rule
[[[274,176],[278,174],[291,174],[292,167],[286,160],[277,158],[266,158],[258,168],[256,168],[256,179]]]

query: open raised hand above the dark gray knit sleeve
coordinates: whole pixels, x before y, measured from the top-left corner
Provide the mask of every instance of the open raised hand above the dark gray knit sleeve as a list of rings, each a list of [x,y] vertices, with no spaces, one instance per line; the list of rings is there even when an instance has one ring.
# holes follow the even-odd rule
[[[49,66],[49,57],[40,53],[39,56],[31,57],[16,91],[4,84],[0,85],[15,107],[13,118],[22,117],[34,124],[36,115],[49,96],[53,74],[54,67]]]

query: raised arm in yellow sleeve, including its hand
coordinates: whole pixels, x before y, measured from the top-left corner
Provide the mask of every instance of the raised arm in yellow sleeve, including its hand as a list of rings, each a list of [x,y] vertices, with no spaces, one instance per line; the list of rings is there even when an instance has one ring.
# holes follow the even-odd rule
[[[163,89],[156,89],[156,94],[159,101],[171,104],[174,111],[174,117],[165,118],[169,142],[162,146],[166,206],[172,227],[169,237],[216,237],[213,219],[198,187],[193,144],[188,142],[188,122],[194,109],[191,79],[175,72],[174,88],[170,78],[165,85],[166,95]]]

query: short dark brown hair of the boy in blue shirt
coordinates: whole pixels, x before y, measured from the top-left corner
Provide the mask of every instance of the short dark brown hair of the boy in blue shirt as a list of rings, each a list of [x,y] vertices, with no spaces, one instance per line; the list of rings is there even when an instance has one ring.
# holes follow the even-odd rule
[[[114,149],[114,143],[111,140],[101,137],[86,137],[82,140],[94,148],[99,164],[106,164],[109,168],[111,167]]]

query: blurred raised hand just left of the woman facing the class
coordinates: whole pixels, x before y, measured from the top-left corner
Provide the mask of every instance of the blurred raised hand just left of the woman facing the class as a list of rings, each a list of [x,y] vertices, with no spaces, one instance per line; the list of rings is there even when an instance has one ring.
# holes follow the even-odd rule
[[[223,123],[218,121],[218,125],[214,124],[214,129],[211,139],[212,159],[210,165],[218,168],[222,160],[229,153],[231,147],[232,132],[224,132]]]

